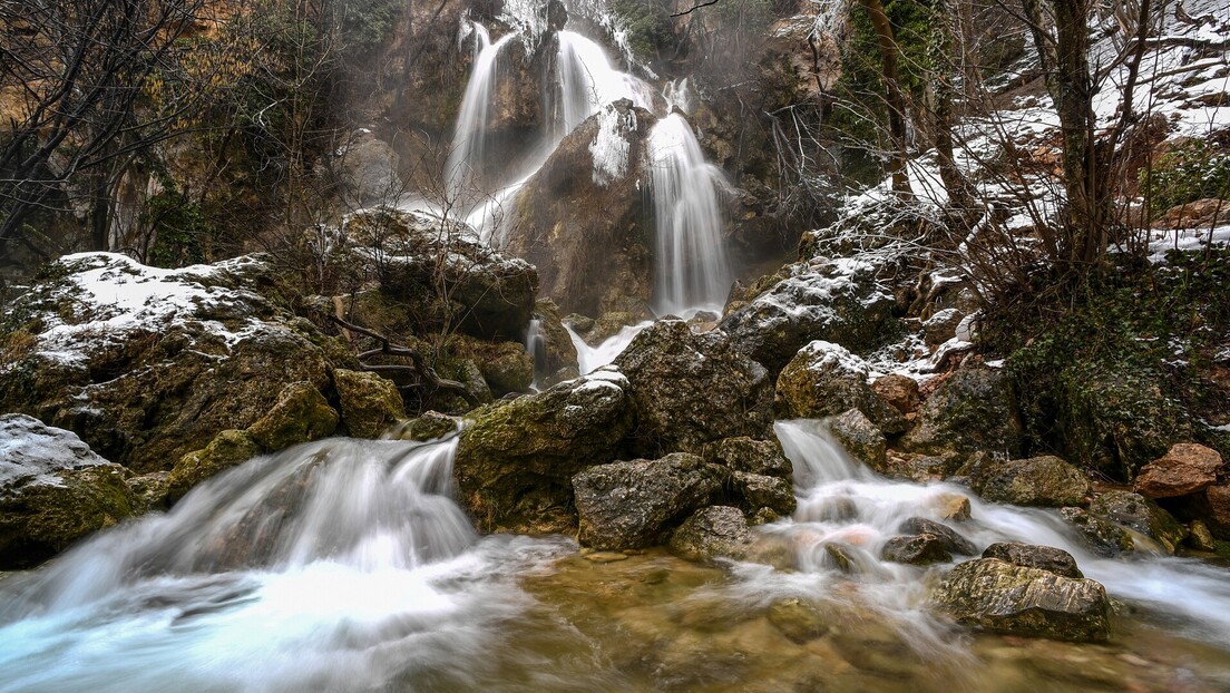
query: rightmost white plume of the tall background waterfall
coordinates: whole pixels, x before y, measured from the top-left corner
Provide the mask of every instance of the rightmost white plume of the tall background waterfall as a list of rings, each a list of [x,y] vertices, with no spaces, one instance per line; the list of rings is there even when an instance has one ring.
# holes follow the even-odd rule
[[[731,268],[722,239],[718,186],[722,174],[711,164],[679,113],[649,132],[651,192],[657,235],[654,309],[680,314],[722,311]]]

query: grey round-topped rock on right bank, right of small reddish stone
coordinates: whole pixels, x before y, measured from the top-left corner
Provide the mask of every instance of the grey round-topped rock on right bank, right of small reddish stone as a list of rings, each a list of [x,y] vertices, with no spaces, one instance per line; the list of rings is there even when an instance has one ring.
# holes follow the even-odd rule
[[[902,447],[921,453],[1020,454],[1021,419],[1007,377],[994,368],[957,371],[922,404]]]

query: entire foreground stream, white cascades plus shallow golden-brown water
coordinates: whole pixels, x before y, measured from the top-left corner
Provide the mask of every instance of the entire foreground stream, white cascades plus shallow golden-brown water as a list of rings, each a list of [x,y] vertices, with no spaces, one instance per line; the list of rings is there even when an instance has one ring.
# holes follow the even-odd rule
[[[0,691],[1216,691],[1230,582],[1183,559],[1102,560],[1052,512],[956,523],[1065,548],[1128,607],[1109,645],[969,635],[926,608],[942,567],[881,563],[959,486],[881,479],[814,421],[777,425],[796,569],[661,551],[595,563],[567,538],[478,538],[449,497],[456,439],[327,439],[253,459],[167,515],[0,581]],[[856,570],[823,550],[841,543]],[[604,559],[608,560],[608,559]],[[827,633],[790,639],[801,602]],[[785,604],[785,607],[782,607]],[[759,686],[759,688],[756,688]]]

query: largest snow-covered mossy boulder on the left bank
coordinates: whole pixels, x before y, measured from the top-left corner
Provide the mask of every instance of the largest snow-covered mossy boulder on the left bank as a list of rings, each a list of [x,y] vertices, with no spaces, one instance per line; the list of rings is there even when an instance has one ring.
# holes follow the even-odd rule
[[[71,430],[134,471],[169,470],[256,423],[292,383],[330,391],[333,364],[353,358],[258,293],[274,286],[260,257],[160,270],[65,256],[2,309],[0,411]]]

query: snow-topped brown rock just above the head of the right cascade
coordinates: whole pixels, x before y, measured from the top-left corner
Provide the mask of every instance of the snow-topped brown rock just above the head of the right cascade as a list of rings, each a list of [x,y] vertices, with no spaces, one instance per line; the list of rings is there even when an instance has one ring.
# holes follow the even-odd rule
[[[905,417],[867,384],[871,367],[840,345],[814,341],[777,377],[779,419],[823,419],[857,409],[887,433],[905,430]]]

